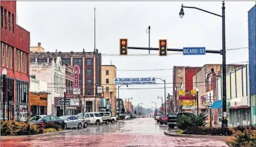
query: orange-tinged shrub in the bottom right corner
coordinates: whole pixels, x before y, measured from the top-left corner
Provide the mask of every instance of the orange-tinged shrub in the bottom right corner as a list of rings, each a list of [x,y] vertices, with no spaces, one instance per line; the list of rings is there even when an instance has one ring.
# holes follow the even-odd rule
[[[248,126],[243,132],[240,130],[235,131],[235,129],[232,131],[233,137],[230,137],[227,142],[229,146],[256,146],[256,130],[253,126]]]

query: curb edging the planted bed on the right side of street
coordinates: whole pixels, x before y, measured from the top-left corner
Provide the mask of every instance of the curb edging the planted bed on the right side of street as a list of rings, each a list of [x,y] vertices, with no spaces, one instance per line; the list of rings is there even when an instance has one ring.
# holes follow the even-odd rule
[[[219,139],[219,140],[228,139],[228,136],[218,136],[218,135],[191,135],[191,134],[174,134],[174,133],[167,133],[167,132],[164,132],[164,135],[169,135],[172,137],[186,137],[186,138],[209,138],[209,139]]]

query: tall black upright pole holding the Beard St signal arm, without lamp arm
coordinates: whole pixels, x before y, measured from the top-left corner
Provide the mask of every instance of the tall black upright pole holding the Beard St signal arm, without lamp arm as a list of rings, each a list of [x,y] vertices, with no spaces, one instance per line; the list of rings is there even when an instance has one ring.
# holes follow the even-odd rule
[[[225,39],[225,1],[222,1],[222,127],[227,127],[226,120],[226,39]]]

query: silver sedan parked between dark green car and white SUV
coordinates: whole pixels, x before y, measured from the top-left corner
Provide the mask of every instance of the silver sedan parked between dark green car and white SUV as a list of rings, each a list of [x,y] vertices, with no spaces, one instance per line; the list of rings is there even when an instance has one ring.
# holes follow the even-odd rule
[[[79,119],[74,115],[60,116],[60,118],[64,119],[65,128],[73,128],[73,127],[82,128],[83,126],[83,120]]]

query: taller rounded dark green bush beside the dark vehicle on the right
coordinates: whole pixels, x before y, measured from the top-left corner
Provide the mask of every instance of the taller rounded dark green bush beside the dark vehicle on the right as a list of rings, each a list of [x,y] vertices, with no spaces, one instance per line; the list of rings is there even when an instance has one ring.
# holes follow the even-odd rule
[[[186,115],[181,115],[178,116],[177,120],[177,127],[180,128],[181,130],[186,130],[188,127],[199,127],[199,126],[206,126],[207,116],[201,113],[199,116],[186,116]]]

